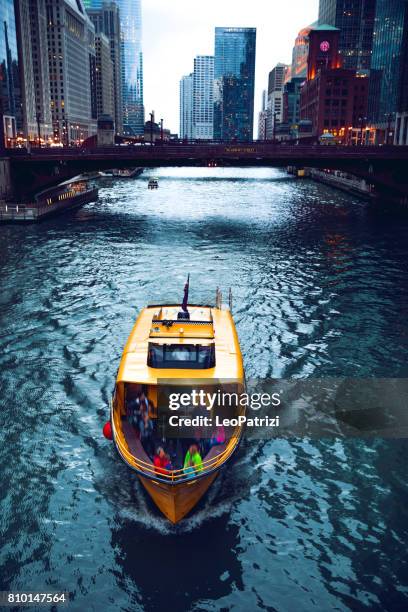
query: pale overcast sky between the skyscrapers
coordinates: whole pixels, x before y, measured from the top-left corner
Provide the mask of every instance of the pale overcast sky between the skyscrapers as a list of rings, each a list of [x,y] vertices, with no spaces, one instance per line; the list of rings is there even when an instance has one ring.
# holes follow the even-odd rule
[[[318,0],[142,0],[146,120],[178,132],[179,81],[196,55],[214,54],[215,26],[256,27],[255,122],[268,72],[290,63],[298,31],[317,19]]]

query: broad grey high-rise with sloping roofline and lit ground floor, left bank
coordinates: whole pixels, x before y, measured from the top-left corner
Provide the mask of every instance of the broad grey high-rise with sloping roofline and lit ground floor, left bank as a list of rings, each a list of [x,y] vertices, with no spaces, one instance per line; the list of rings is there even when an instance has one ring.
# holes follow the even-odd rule
[[[79,144],[96,133],[95,29],[81,0],[47,0],[54,138]]]

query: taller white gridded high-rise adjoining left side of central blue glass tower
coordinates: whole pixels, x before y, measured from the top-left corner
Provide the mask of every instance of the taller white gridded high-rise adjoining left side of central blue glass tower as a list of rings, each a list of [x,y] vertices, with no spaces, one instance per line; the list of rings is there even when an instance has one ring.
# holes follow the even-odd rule
[[[214,57],[198,55],[193,73],[193,138],[212,140],[214,123]]]

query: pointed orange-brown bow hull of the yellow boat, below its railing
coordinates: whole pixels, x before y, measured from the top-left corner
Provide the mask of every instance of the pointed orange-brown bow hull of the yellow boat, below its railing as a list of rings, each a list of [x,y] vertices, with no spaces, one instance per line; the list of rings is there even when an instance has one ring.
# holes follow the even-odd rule
[[[178,523],[200,501],[218,476],[218,471],[198,479],[175,485],[166,484],[138,474],[140,482],[156,506],[172,523]]]

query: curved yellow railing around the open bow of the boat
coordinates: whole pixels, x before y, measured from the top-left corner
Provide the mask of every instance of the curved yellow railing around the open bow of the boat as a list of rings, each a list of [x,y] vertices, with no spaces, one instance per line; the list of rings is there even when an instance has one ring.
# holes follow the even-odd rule
[[[123,458],[134,468],[137,470],[144,472],[146,476],[154,477],[155,480],[160,480],[161,482],[173,483],[179,481],[191,481],[196,478],[200,478],[204,475],[207,475],[218,465],[223,464],[234,452],[240,437],[240,427],[236,427],[234,429],[233,435],[228,441],[226,448],[221,451],[218,455],[211,457],[211,459],[204,460],[202,462],[202,469],[197,470],[194,475],[186,474],[183,468],[177,470],[164,470],[161,469],[160,472],[157,471],[153,463],[149,463],[144,461],[143,459],[139,459],[132,455],[132,453],[126,448],[126,445],[121,440],[121,436],[118,435],[118,431],[115,424],[115,418],[112,412],[112,429],[114,433],[114,439],[120,454]]]

